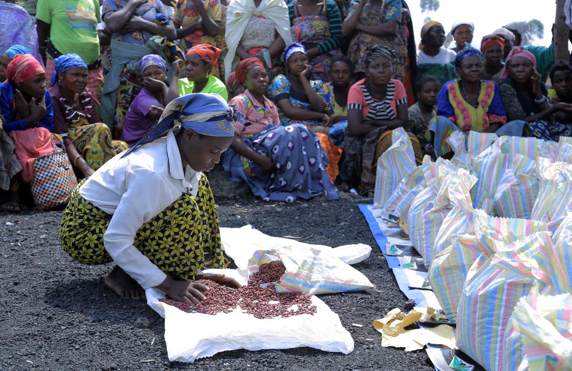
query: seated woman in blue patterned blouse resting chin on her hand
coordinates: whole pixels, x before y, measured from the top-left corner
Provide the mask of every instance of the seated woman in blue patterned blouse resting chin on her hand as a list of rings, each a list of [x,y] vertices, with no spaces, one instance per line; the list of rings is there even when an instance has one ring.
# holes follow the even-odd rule
[[[328,175],[335,180],[341,149],[331,139],[332,108],[326,86],[320,80],[308,80],[312,66],[304,46],[293,42],[284,50],[288,74],[279,74],[272,81],[271,96],[280,113],[283,126],[304,124],[319,133],[320,144],[328,153]],[[328,99],[327,99],[328,98]],[[334,131],[335,133],[335,131]]]

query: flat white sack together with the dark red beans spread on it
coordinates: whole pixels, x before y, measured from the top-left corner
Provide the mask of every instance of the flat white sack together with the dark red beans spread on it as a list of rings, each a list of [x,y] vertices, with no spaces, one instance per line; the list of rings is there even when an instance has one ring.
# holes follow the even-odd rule
[[[157,289],[146,290],[149,306],[165,318],[170,361],[194,362],[235,349],[309,346],[325,352],[353,351],[351,334],[323,301],[312,295],[276,293],[274,284],[284,273],[280,262],[260,266],[248,285],[238,270],[204,272],[224,273],[245,286],[200,280],[210,291],[197,306],[172,301]]]

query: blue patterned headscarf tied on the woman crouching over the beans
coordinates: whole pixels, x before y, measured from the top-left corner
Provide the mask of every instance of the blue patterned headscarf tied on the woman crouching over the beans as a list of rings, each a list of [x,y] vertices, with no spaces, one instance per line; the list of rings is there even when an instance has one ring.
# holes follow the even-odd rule
[[[198,134],[216,137],[235,136],[233,123],[243,122],[244,115],[229,106],[219,94],[187,94],[170,102],[155,125],[123,156],[140,145],[151,143],[170,129],[182,127]]]

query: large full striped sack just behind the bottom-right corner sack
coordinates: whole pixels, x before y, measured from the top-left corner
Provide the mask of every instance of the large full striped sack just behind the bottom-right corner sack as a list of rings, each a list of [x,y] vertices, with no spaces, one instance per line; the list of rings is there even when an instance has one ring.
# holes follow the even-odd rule
[[[501,236],[502,238],[502,236]],[[506,244],[495,239],[468,271],[457,312],[456,344],[491,371],[505,370],[507,323],[518,300],[534,286],[553,294],[567,285],[550,232]]]

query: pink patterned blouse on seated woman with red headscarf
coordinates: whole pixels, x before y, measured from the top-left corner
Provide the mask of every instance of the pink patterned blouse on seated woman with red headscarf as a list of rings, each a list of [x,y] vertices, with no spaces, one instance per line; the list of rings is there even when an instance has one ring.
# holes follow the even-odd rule
[[[235,133],[241,139],[253,137],[263,131],[268,124],[280,125],[278,109],[267,97],[264,97],[264,104],[260,104],[252,94],[244,90],[242,94],[232,98],[229,105],[234,105],[245,116],[244,123],[235,122]]]

